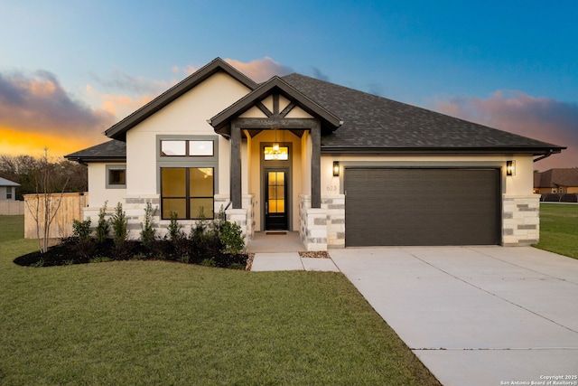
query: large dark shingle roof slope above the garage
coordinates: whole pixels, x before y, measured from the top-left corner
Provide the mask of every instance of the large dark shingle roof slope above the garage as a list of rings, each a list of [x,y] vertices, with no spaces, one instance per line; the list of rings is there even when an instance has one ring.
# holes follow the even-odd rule
[[[322,137],[325,150],[517,149],[537,155],[564,148],[296,73],[283,79],[343,121]]]

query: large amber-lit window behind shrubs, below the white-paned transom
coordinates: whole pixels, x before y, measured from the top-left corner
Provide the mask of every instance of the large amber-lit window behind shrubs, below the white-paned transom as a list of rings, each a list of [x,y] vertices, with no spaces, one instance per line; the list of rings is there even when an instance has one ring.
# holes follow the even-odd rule
[[[212,167],[162,167],[161,201],[163,219],[177,213],[180,220],[212,219],[214,168]]]

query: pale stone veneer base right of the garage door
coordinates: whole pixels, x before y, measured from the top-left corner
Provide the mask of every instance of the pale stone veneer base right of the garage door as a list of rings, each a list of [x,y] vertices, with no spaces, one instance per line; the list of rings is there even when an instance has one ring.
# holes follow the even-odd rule
[[[540,194],[502,194],[502,244],[527,246],[540,240]]]

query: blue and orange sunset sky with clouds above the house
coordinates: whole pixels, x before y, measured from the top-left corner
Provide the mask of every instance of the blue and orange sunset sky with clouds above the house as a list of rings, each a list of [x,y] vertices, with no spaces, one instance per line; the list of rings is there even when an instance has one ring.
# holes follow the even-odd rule
[[[60,156],[216,57],[299,72],[567,146],[578,167],[578,2],[0,0],[0,155]]]

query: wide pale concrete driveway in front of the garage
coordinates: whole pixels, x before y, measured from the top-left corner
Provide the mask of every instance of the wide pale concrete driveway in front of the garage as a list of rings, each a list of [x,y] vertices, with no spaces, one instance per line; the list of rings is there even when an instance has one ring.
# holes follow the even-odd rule
[[[578,384],[578,260],[531,247],[330,253],[444,385]]]

